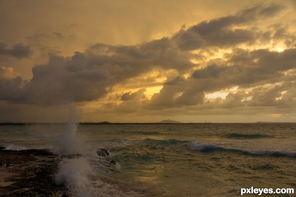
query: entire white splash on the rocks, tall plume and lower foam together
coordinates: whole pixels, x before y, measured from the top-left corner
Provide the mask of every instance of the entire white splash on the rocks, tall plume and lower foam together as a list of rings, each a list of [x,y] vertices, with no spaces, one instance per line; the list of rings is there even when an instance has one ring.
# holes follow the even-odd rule
[[[115,161],[105,159],[112,154],[107,150],[108,155],[99,157],[92,154],[87,148],[81,149],[76,132],[75,110],[69,109],[69,123],[66,129],[58,135],[53,152],[63,155],[59,164],[58,172],[55,174],[57,184],[65,184],[68,191],[74,197],[142,197],[129,183],[120,182],[104,176],[113,170],[119,170],[120,165]],[[105,149],[103,149],[105,150]],[[64,157],[64,155],[70,155]],[[104,157],[104,158],[102,158]]]

